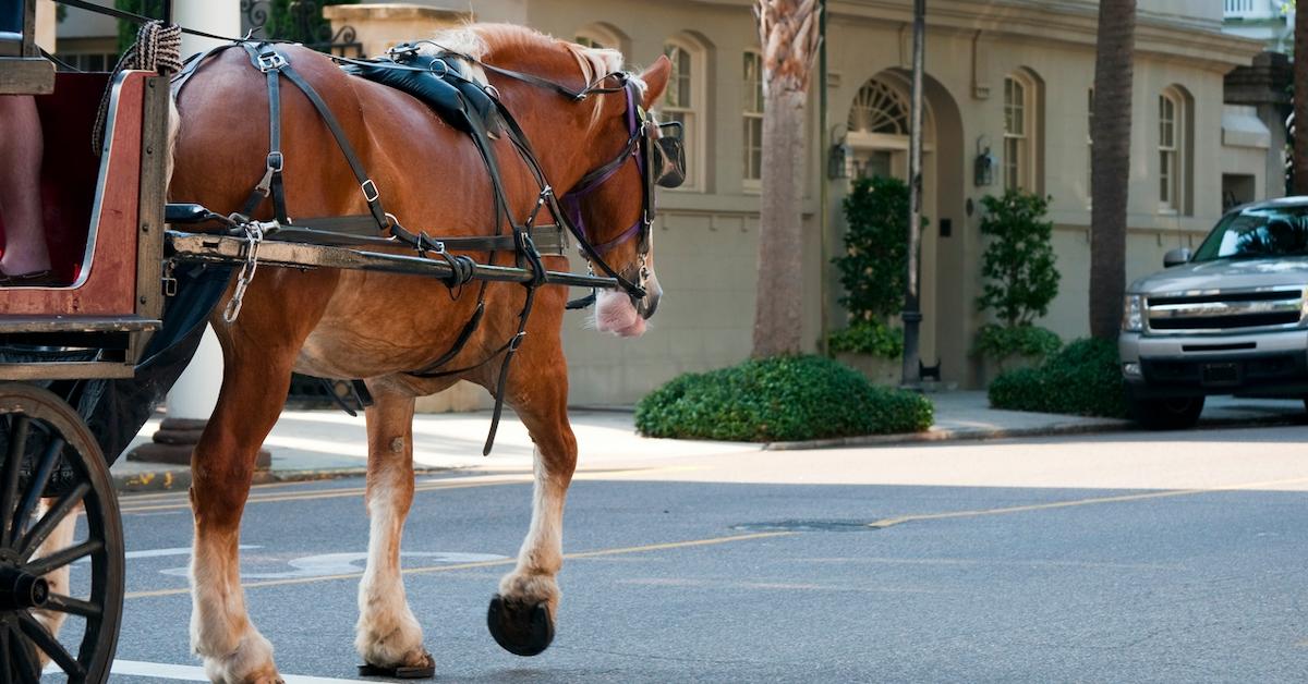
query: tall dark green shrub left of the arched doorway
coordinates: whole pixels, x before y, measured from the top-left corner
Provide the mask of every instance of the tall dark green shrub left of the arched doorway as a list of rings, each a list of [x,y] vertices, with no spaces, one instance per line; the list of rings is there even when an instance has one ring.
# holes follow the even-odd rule
[[[859,178],[845,196],[845,254],[832,259],[850,322],[882,320],[904,309],[908,275],[908,184]]]

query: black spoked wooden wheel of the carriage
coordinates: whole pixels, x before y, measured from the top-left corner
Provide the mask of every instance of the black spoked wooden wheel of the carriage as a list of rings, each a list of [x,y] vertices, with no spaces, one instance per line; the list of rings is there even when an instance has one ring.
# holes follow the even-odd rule
[[[0,684],[39,681],[46,660],[69,681],[105,681],[124,561],[99,446],[59,396],[0,385]]]

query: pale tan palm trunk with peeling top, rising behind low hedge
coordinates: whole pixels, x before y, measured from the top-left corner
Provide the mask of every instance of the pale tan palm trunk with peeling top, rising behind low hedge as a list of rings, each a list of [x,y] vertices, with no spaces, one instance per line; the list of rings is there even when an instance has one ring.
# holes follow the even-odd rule
[[[753,356],[798,353],[803,332],[803,180],[816,0],[757,0],[763,46],[763,194]]]

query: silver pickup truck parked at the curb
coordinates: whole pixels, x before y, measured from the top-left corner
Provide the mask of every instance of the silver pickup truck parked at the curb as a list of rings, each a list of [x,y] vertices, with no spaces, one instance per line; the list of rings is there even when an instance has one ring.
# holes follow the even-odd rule
[[[1227,212],[1199,247],[1126,289],[1131,416],[1189,428],[1207,395],[1308,398],[1308,197]]]

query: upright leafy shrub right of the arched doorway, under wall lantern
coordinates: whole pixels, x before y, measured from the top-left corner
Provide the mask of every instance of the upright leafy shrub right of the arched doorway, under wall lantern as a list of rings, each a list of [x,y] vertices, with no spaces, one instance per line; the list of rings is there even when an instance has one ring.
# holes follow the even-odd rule
[[[1045,220],[1049,197],[1023,190],[981,197],[986,235],[981,275],[989,279],[977,299],[981,310],[994,310],[1007,327],[1029,326],[1049,313],[1058,294],[1054,267],[1053,222]]]

